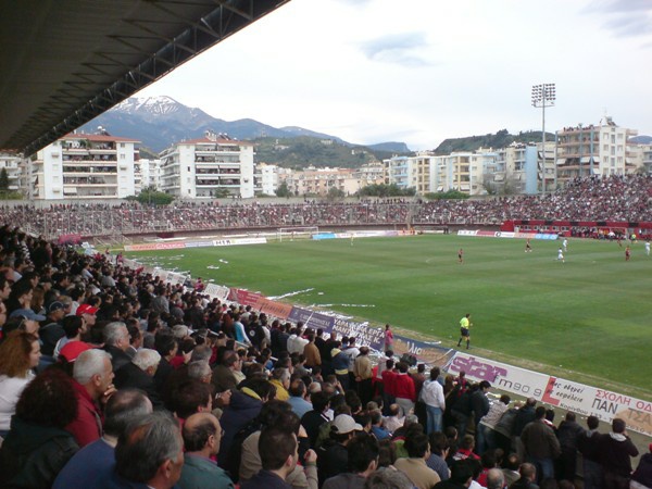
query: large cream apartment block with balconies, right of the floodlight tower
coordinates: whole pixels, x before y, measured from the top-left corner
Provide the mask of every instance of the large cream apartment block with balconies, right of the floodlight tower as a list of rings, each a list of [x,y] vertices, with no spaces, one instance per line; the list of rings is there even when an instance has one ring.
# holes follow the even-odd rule
[[[638,131],[618,127],[611,117],[599,125],[557,130],[556,171],[562,185],[588,175],[626,175],[636,171],[628,139]]]

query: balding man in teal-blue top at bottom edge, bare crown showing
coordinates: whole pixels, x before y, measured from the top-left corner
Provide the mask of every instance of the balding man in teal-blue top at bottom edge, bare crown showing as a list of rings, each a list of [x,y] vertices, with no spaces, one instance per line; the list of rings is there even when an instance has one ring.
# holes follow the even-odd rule
[[[184,423],[181,432],[186,453],[179,487],[233,489],[228,475],[211,460],[220,451],[222,438],[217,418],[211,413],[192,414]]]

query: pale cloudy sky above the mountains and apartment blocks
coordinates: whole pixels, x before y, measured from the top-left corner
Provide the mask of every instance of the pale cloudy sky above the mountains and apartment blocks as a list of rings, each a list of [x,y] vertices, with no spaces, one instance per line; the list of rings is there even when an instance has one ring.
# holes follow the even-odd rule
[[[652,0],[291,0],[139,97],[355,143],[539,130],[652,135]]]

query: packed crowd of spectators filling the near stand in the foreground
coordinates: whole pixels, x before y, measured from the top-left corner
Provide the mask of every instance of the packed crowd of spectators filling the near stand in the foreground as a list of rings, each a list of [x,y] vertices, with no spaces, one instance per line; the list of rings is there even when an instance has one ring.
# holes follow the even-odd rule
[[[652,487],[622,419],[280,323],[0,228],[0,487]],[[176,485],[176,486],[175,486]],[[637,486],[638,485],[638,486]]]

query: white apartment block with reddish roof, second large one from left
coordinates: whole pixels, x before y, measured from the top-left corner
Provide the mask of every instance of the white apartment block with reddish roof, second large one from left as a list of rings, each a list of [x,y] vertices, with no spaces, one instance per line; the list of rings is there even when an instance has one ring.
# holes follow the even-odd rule
[[[179,198],[254,196],[253,145],[206,131],[161,155],[160,189]]]

